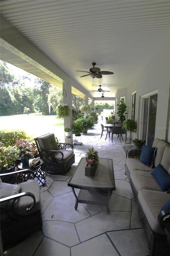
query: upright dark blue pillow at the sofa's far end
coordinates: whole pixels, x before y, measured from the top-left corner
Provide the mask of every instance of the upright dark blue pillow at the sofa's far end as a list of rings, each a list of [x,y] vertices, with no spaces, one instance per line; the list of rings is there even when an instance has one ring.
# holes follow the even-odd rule
[[[139,160],[143,164],[152,168],[156,150],[157,148],[152,148],[151,146],[143,145]]]

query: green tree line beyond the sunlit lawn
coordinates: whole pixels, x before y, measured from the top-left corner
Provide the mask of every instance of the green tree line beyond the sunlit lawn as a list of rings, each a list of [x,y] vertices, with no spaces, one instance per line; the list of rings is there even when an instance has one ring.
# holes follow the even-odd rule
[[[30,80],[27,76],[16,76],[8,69],[5,62],[0,62],[0,116],[13,114],[41,112],[56,114],[56,107],[63,102],[62,89],[44,81],[35,79],[33,86],[28,86],[24,81]],[[84,100],[72,94],[73,111],[79,112]],[[112,109],[108,103],[95,103],[95,112],[99,114],[104,108]]]

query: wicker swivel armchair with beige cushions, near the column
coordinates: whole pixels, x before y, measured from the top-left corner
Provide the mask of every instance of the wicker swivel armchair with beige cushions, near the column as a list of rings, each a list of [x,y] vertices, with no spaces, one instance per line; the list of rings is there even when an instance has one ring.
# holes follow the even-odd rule
[[[49,174],[64,174],[75,162],[73,145],[57,143],[55,135],[48,133],[34,139],[44,168]],[[68,150],[70,149],[70,150]]]

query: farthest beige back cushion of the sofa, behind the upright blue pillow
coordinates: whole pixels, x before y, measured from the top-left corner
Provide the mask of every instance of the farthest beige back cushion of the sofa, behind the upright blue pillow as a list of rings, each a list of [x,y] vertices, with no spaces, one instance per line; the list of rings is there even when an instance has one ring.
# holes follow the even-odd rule
[[[166,148],[166,146],[169,145],[168,143],[166,143],[164,140],[155,138],[153,141],[153,147],[157,148],[157,152],[156,152],[156,156],[154,159],[154,166],[157,166],[158,164],[161,163],[162,161],[162,157],[164,154],[164,150]]]

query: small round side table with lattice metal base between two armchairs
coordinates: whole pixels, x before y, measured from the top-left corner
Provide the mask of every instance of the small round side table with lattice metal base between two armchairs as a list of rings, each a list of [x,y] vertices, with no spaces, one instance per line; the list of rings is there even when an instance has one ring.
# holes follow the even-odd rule
[[[32,161],[32,159],[29,160],[29,164]],[[46,177],[47,177],[47,172],[46,169],[43,168],[43,163],[44,161],[42,159],[40,159],[40,162],[38,165],[36,166],[29,166],[28,169],[32,170],[36,176],[36,179],[39,183],[39,186],[46,186]],[[18,164],[18,169],[23,170],[26,169],[26,167],[22,166],[22,162],[20,164]]]

